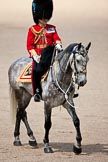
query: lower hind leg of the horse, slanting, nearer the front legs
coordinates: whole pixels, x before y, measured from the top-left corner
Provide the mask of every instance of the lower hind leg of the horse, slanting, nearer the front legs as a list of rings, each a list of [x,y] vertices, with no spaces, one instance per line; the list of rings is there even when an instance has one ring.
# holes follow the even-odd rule
[[[30,126],[29,126],[29,123],[28,123],[28,120],[27,120],[27,112],[25,110],[22,110],[22,115],[21,115],[21,119],[22,121],[24,122],[25,126],[26,126],[26,129],[27,129],[27,134],[29,136],[29,144],[31,146],[37,146],[37,142],[36,142],[36,139],[33,135],[33,131],[31,130]]]

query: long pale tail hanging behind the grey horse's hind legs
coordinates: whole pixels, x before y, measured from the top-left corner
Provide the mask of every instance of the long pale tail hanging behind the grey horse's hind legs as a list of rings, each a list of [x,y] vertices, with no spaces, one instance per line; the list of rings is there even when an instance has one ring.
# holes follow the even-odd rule
[[[15,120],[16,120],[17,100],[16,100],[16,97],[15,97],[15,91],[11,87],[11,85],[9,86],[9,95],[10,95],[10,114],[11,114],[11,120],[12,120],[12,123],[14,124]]]

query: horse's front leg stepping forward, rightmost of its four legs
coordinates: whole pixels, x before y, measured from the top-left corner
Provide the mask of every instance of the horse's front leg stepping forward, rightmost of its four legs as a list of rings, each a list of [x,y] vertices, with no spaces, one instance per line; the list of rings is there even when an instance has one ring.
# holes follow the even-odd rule
[[[76,114],[75,108],[69,106],[67,108],[67,111],[72,117],[74,126],[76,128],[76,144],[73,146],[73,151],[76,154],[80,154],[82,152],[82,148],[81,148],[82,137],[81,137],[81,131],[80,131],[80,120]]]

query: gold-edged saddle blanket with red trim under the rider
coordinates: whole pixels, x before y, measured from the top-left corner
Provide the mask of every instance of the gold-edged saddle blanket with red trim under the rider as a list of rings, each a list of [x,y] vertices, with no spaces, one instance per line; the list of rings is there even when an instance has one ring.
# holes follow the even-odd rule
[[[21,71],[20,75],[16,79],[17,82],[26,82],[26,83],[31,83],[32,82],[32,62],[28,63],[24,69]],[[48,71],[42,76],[41,82],[45,80],[45,78],[48,75]]]

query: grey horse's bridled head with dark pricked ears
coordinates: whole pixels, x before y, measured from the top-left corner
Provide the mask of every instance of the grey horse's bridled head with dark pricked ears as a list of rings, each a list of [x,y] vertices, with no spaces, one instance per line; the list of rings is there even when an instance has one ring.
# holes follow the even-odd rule
[[[69,58],[71,68],[74,71],[75,82],[78,86],[84,86],[87,82],[87,62],[90,46],[91,42],[86,47],[81,43],[75,45]]]

